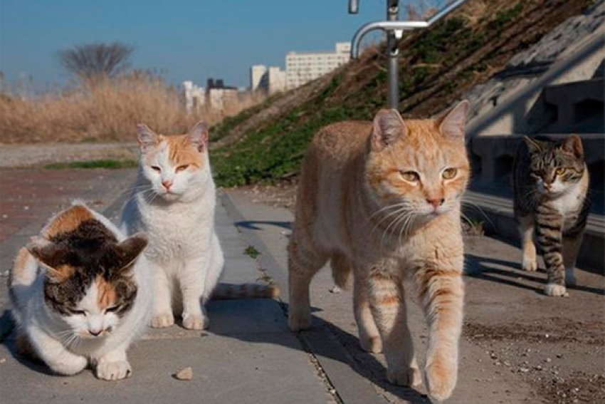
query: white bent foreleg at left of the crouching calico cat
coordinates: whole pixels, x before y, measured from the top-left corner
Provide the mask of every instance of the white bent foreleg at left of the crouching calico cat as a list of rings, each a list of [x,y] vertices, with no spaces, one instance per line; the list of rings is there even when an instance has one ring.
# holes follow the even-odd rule
[[[36,354],[56,373],[75,375],[88,365],[88,360],[84,356],[71,353],[60,341],[37,326],[28,326],[27,334]]]

